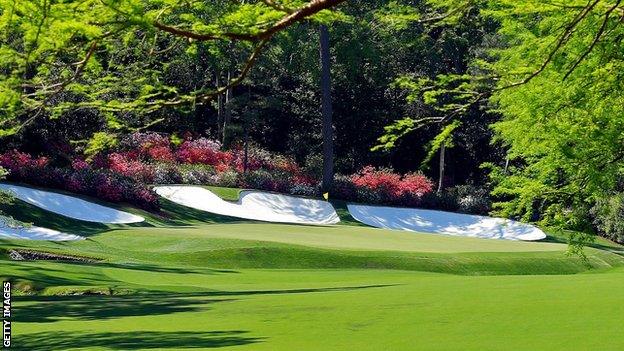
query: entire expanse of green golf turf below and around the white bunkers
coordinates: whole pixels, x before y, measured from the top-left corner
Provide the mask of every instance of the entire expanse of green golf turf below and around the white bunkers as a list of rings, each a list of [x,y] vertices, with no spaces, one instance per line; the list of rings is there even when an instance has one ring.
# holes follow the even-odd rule
[[[561,236],[525,243],[254,223],[167,201],[157,215],[119,208],[147,222],[94,225],[7,208],[88,239],[5,240],[0,250],[103,259],[16,262],[0,251],[0,277],[34,294],[15,298],[16,349],[624,348],[624,258],[608,241],[587,250],[588,265],[565,255]]]

